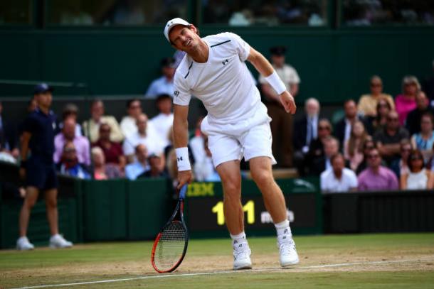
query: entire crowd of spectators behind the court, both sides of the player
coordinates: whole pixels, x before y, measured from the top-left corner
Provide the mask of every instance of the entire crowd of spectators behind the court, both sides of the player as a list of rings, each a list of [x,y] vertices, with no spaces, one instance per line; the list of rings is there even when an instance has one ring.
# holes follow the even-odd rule
[[[287,89],[297,96],[300,77],[285,63],[285,48],[270,49],[271,62]],[[90,104],[90,119],[78,123],[75,104],[63,107],[54,138],[58,173],[76,178],[176,179],[171,125],[173,58],[162,60],[162,77],[152,82],[145,99],[154,99],[158,114],[148,119],[140,99],[126,101],[120,123],[105,114],[104,102]],[[297,119],[286,114],[278,96],[262,77],[258,87],[272,116],[273,154],[280,166],[300,176],[319,176],[323,192],[412,190],[434,187],[434,109],[414,76],[403,77],[402,93],[383,92],[381,77],[370,79],[369,94],[347,99],[340,119],[323,118],[320,103],[309,98]],[[19,161],[19,131],[1,118],[0,160]],[[32,99],[28,111],[36,109]],[[339,115],[339,114],[338,114]],[[189,153],[195,179],[219,180],[213,167],[201,117],[191,131]]]

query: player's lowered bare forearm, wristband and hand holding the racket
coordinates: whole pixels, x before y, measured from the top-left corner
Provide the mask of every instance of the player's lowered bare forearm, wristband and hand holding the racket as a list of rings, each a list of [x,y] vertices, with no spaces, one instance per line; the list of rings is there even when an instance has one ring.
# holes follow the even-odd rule
[[[174,104],[174,146],[175,149],[186,148],[189,143],[189,107]],[[185,159],[186,158],[186,159]],[[189,162],[188,151],[183,156],[179,156],[179,152],[176,151],[176,159],[178,164]],[[191,169],[183,170],[178,166],[178,189],[181,189],[183,185],[191,182],[192,174]]]

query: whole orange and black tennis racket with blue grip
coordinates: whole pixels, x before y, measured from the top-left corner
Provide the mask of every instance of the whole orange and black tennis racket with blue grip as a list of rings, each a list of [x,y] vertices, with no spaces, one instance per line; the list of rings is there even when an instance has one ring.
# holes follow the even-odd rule
[[[169,221],[155,238],[151,262],[159,273],[174,271],[181,264],[189,245],[189,232],[184,222],[184,198],[187,185],[179,191],[178,205]]]

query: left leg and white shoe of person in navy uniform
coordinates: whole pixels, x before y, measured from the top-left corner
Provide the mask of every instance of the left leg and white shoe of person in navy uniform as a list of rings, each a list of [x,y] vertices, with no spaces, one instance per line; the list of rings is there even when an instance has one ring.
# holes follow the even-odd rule
[[[26,196],[24,197],[23,207],[21,207],[19,215],[19,238],[16,241],[16,248],[18,250],[31,250],[34,248],[33,244],[27,239],[28,220],[30,219],[31,209],[38,200],[39,190],[37,187],[28,186],[26,188]]]

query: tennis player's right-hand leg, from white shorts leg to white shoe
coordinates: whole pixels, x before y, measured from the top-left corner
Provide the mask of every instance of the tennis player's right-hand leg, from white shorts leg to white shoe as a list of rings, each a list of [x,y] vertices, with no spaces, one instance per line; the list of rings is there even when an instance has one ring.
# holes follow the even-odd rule
[[[287,220],[285,198],[272,176],[271,165],[274,157],[271,153],[271,141],[268,124],[255,126],[243,138],[244,156],[250,162],[250,173],[263,194],[265,207],[277,230],[280,265],[290,266],[298,263],[298,255],[292,240],[290,222]]]

